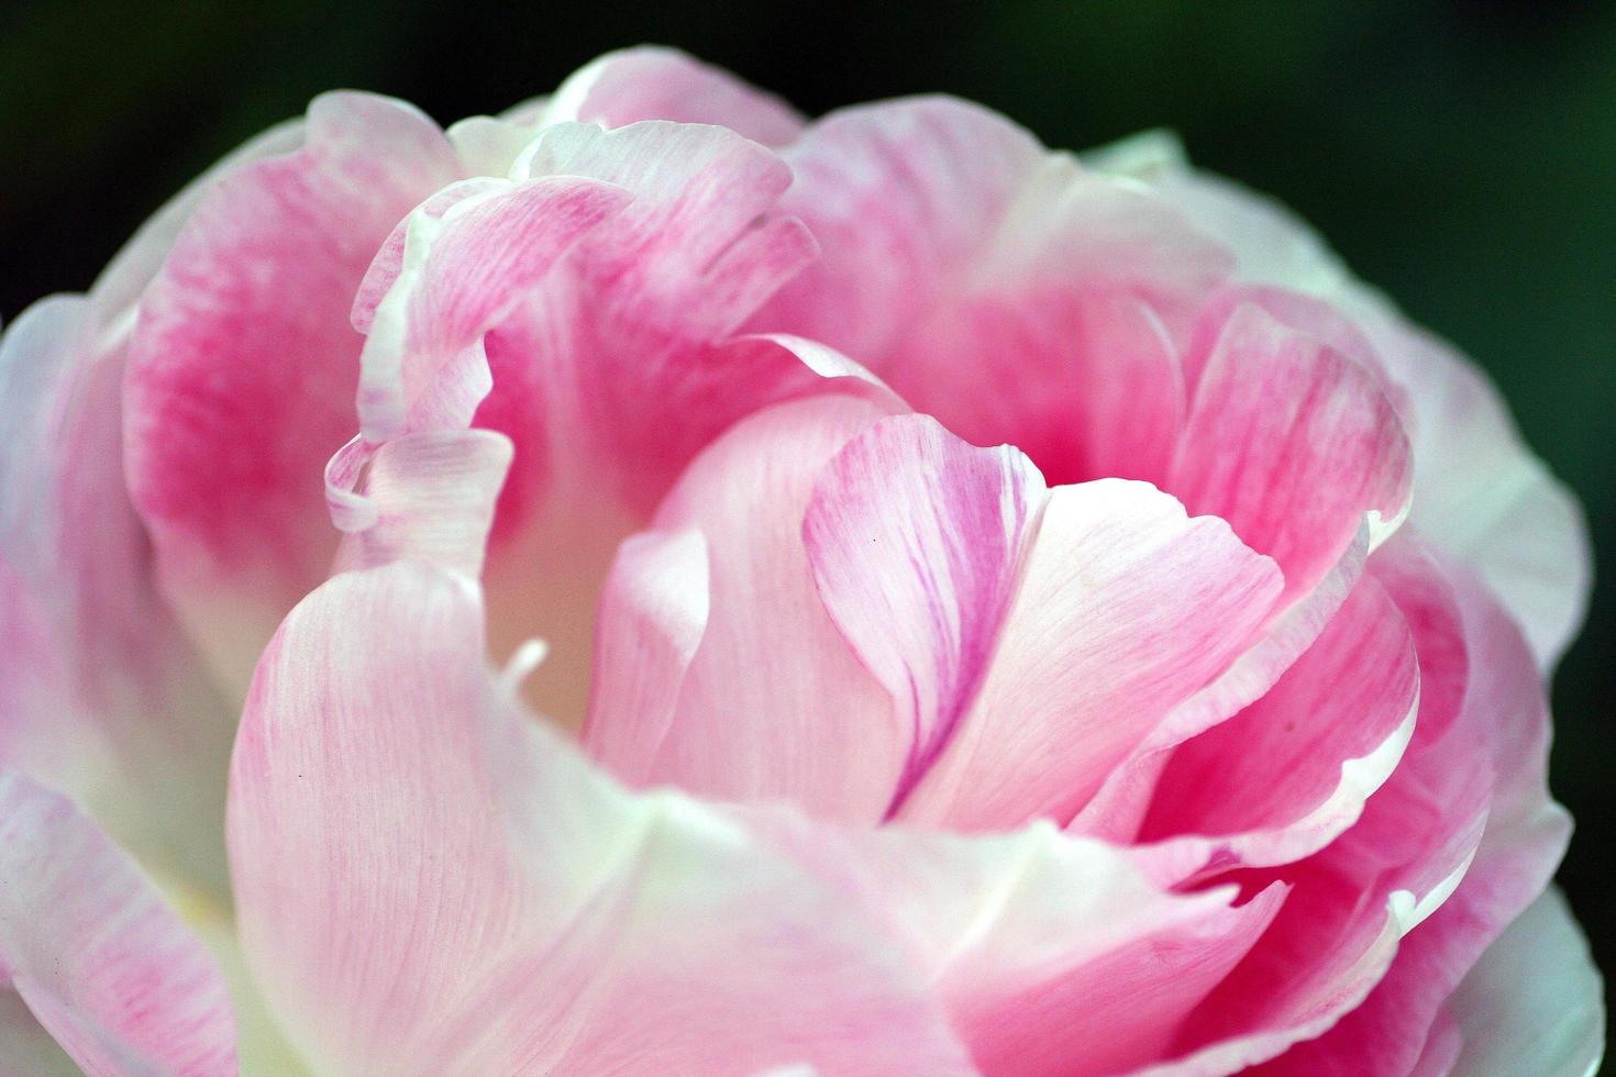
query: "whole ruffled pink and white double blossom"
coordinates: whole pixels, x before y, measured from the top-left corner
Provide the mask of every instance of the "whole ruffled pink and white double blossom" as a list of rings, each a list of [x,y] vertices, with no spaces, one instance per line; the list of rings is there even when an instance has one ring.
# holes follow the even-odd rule
[[[0,344],[0,1071],[1592,1072],[1587,586],[1165,136],[323,95]]]

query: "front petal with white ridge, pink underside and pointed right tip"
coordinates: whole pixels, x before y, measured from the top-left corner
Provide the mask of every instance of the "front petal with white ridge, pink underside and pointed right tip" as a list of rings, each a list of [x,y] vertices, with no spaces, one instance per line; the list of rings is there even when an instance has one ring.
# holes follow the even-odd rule
[[[1285,899],[1172,895],[1047,822],[960,836],[758,819],[910,945],[989,1074],[1113,1074],[1155,1058]]]

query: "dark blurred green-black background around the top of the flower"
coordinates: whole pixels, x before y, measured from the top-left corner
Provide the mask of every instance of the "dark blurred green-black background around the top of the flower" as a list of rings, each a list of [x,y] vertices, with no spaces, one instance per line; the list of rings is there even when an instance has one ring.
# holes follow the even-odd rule
[[[443,123],[600,52],[680,45],[800,108],[973,97],[1057,147],[1176,129],[1272,192],[1503,386],[1589,509],[1603,578],[1555,683],[1561,870],[1616,974],[1616,5],[727,0],[10,0],[0,6],[0,318],[89,286],[168,194],[331,87]]]

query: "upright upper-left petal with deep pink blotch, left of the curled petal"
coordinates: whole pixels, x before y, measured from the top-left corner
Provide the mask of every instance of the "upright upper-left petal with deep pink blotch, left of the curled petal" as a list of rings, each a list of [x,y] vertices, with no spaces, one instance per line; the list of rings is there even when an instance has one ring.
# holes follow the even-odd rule
[[[393,226],[456,171],[412,108],[320,97],[301,149],[202,197],[141,300],[129,488],[165,593],[228,680],[330,568],[320,465],[352,434],[362,342],[347,308]]]

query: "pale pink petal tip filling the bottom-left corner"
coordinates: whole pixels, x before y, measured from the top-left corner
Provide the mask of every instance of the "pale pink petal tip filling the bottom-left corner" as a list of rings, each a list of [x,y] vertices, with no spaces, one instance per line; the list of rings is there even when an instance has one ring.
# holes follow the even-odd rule
[[[202,943],[73,804],[0,772],[0,977],[95,1075],[234,1074]]]

